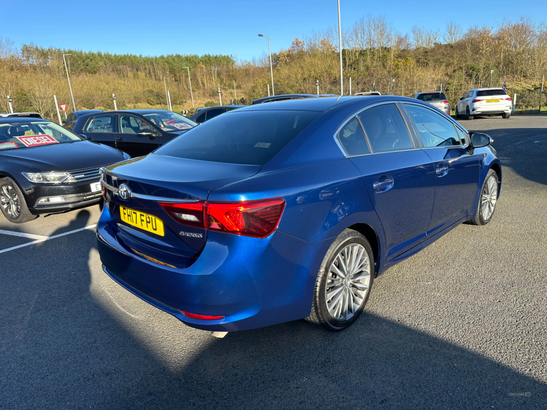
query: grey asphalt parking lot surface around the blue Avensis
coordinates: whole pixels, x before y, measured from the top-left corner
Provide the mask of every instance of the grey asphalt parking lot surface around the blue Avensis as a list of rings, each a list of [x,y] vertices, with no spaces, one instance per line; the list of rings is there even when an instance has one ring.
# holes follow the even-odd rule
[[[340,333],[214,338],[102,272],[98,206],[0,216],[0,408],[546,408],[547,116],[461,123],[502,159],[492,222],[380,276]]]

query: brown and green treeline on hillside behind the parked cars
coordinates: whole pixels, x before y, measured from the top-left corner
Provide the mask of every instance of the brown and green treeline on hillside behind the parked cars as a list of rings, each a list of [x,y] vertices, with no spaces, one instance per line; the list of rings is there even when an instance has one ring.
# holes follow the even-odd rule
[[[398,32],[384,17],[364,16],[343,32],[344,91],[373,88],[382,93],[411,95],[441,87],[452,104],[472,87],[507,82],[516,92],[517,107],[538,107],[540,81],[547,71],[547,29],[527,19],[503,21],[497,27],[471,27],[463,31],[451,22],[445,30],[414,27]],[[136,56],[42,48],[24,44],[20,49],[0,39],[0,110],[7,109],[3,96],[27,109],[53,115],[51,96],[68,101],[63,54],[67,56],[74,98],[78,109],[165,107],[164,77],[173,105],[191,109],[188,73],[190,67],[195,106],[232,96],[249,102],[266,95],[270,83],[267,56],[257,62],[237,65],[225,55]],[[337,30],[314,32],[295,39],[287,49],[272,55],[276,94],[339,93]],[[236,90],[234,90],[234,83]],[[42,98],[42,100],[40,99]],[[544,98],[545,101],[545,98]],[[42,102],[42,104],[40,104]],[[49,108],[48,108],[49,107]],[[49,111],[48,111],[49,110]]]

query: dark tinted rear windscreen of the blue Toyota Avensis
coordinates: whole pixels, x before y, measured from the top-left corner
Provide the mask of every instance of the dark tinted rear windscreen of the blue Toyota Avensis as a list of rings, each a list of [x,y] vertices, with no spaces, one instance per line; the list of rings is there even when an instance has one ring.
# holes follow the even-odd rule
[[[191,160],[264,165],[321,114],[235,110],[203,122],[154,153]]]

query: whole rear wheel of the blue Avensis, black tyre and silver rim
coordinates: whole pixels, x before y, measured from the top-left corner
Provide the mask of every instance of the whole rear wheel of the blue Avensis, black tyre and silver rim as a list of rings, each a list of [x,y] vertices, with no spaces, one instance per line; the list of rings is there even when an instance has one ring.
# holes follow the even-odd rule
[[[374,256],[369,242],[359,232],[346,229],[323,258],[307,319],[329,331],[346,329],[363,312],[373,281]]]

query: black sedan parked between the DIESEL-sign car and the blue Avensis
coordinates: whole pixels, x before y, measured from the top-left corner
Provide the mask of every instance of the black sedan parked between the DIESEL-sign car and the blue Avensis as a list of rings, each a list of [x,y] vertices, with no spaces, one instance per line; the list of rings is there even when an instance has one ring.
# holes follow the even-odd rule
[[[125,110],[82,115],[72,131],[137,157],[152,152],[196,125],[172,111]]]

